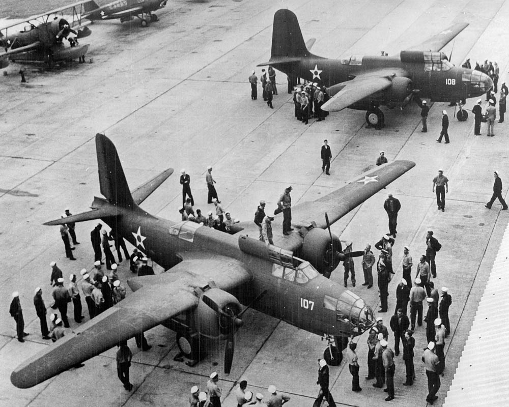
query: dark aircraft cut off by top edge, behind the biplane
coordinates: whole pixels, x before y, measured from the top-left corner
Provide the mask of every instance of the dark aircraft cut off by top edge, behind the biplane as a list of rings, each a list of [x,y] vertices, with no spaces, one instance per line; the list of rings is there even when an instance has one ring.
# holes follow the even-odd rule
[[[93,0],[85,4],[85,18],[89,20],[114,20],[120,22],[131,21],[134,17],[139,18],[140,25],[146,27],[150,22],[158,21],[159,18],[153,12],[166,6],[167,0],[116,0],[99,7]]]

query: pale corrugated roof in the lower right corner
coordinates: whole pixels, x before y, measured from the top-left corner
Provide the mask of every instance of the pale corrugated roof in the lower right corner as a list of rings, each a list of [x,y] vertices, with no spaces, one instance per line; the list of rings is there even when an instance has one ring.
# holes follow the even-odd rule
[[[509,406],[509,224],[443,407]]]

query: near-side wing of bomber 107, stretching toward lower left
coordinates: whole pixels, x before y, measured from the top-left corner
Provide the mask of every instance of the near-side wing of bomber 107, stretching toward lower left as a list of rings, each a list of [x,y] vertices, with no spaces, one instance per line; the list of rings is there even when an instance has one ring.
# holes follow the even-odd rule
[[[135,277],[129,281],[134,293],[75,330],[67,330],[63,338],[20,364],[11,373],[11,382],[22,389],[35,386],[194,308],[199,302],[195,286],[214,280],[218,288],[229,289],[250,279],[240,261],[220,255],[209,260],[206,253],[203,259],[182,261],[172,271]]]

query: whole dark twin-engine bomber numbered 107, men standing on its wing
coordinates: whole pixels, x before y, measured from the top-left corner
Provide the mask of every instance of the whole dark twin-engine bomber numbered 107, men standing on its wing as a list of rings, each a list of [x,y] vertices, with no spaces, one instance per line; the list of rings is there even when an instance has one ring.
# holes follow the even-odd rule
[[[201,337],[226,339],[224,370],[229,373],[235,332],[242,326],[241,304],[325,335],[329,347],[324,357],[331,364],[341,362],[349,336],[373,325],[373,311],[361,298],[322,275],[346,258],[340,240],[326,230],[328,219],[340,219],[413,162],[384,164],[314,202],[299,203],[292,211],[295,231],[290,236],[275,233],[277,245],[266,246],[246,233],[252,222],[238,224],[230,235],[148,214],[138,205],[173,169],[130,192],[114,144],[97,134],[96,148],[106,199],[95,197],[92,211],[46,224],[101,219],[167,271],[129,279],[134,293],[18,366],[11,374],[16,387],[35,386],[159,324],[177,332],[180,350],[192,359],[201,358]],[[258,237],[258,229],[249,235]]]

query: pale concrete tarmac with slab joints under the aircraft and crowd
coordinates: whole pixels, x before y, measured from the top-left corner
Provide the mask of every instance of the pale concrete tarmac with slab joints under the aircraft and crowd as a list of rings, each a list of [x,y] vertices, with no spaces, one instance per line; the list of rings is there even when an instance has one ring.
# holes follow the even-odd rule
[[[331,113],[324,122],[303,125],[295,120],[293,102],[286,93],[286,75],[276,72],[279,95],[274,109],[261,98],[250,99],[247,77],[257,63],[268,61],[274,12],[288,7],[297,14],[305,40],[316,37],[313,52],[329,57],[349,54],[395,54],[418,44],[448,25],[466,20],[470,25],[457,38],[452,61],[460,65],[485,59],[500,66],[505,80],[509,57],[505,44],[509,5],[500,0],[413,2],[411,0],[310,2],[244,0],[224,2],[171,1],[159,12],[160,21],[148,28],[118,21],[93,24],[87,64],[40,73],[28,68],[28,83],[20,85],[20,66],[13,64],[0,79],[0,242],[4,266],[0,270],[0,406],[177,406],[186,405],[192,385],[205,388],[208,375],[217,370],[223,405],[236,405],[234,389],[240,380],[249,390],[267,396],[267,387],[291,395],[288,405],[309,406],[318,393],[317,359],[325,348],[321,338],[255,311],[247,311],[237,333],[230,376],[222,372],[224,343],[211,343],[209,356],[195,367],[175,362],[175,334],[163,327],[146,333],[149,352],[134,353],[131,382],[125,391],[116,376],[115,349],[30,389],[17,389],[9,376],[23,360],[39,352],[41,339],[33,306],[34,289],[43,288],[46,305],[52,260],[64,272],[91,269],[93,250],[89,233],[95,222],[76,225],[81,243],[65,257],[58,227],[42,223],[59,218],[66,208],[86,211],[100,195],[94,136],[105,132],[117,146],[131,189],[167,167],[175,174],[142,207],[150,213],[177,220],[181,205],[179,171],[191,176],[195,208],[205,213],[205,171],[213,166],[216,189],[223,208],[234,218],[250,220],[258,201],[275,208],[279,194],[293,186],[297,203],[314,200],[374,167],[379,151],[389,160],[413,160],[416,166],[386,190],[364,202],[336,222],[332,231],[354,242],[354,250],[374,245],[387,232],[383,202],[393,192],[402,203],[398,237],[393,249],[396,275],[389,284],[389,312],[381,314],[388,326],[401,278],[403,246],[410,247],[413,263],[426,249],[426,232],[433,229],[443,248],[437,254],[435,286],[449,287],[452,334],[446,340],[446,369],[435,405],[443,403],[468,336],[478,300],[491,270],[509,214],[498,202],[484,207],[492,194],[493,170],[501,173],[507,192],[506,123],[495,125],[493,138],[473,135],[473,119],[454,119],[454,108],[435,103],[428,118],[428,133],[421,133],[419,109],[385,112],[382,131],[366,129],[364,112]],[[451,45],[445,47],[449,54]],[[89,63],[90,60],[93,63]],[[261,68],[256,68],[260,77]],[[484,100],[484,97],[483,97]],[[475,100],[467,101],[471,108]],[[484,102],[483,102],[484,103]],[[451,142],[438,144],[441,111],[450,118]],[[320,147],[329,140],[333,161],[331,176],[321,171]],[[439,167],[449,179],[445,212],[437,211],[432,179]],[[277,244],[277,242],[275,242]],[[132,247],[129,247],[131,250]],[[375,255],[378,255],[374,250]],[[116,253],[115,253],[116,256]],[[129,276],[120,264],[121,279]],[[357,286],[349,289],[376,311],[376,286],[366,289],[360,259],[355,259]],[[160,271],[160,270],[159,270]],[[415,275],[416,267],[413,268]],[[332,279],[343,281],[342,266]],[[20,292],[25,319],[24,343],[16,340],[15,324],[8,314],[11,293]],[[84,305],[84,304],[83,304]],[[86,312],[86,309],[83,310]],[[425,307],[426,312],[426,307]],[[49,313],[49,311],[48,311]],[[72,315],[72,306],[68,311]],[[70,318],[71,329],[76,326]],[[424,327],[414,337],[416,380],[404,387],[405,368],[396,358],[395,399],[391,405],[426,405],[427,383],[421,350]],[[364,380],[367,374],[366,335],[355,338],[362,391],[351,391],[351,376],[343,363],[330,367],[331,391],[339,405],[384,404],[386,393]],[[389,345],[393,345],[389,335]],[[495,391],[495,389],[494,389]]]

